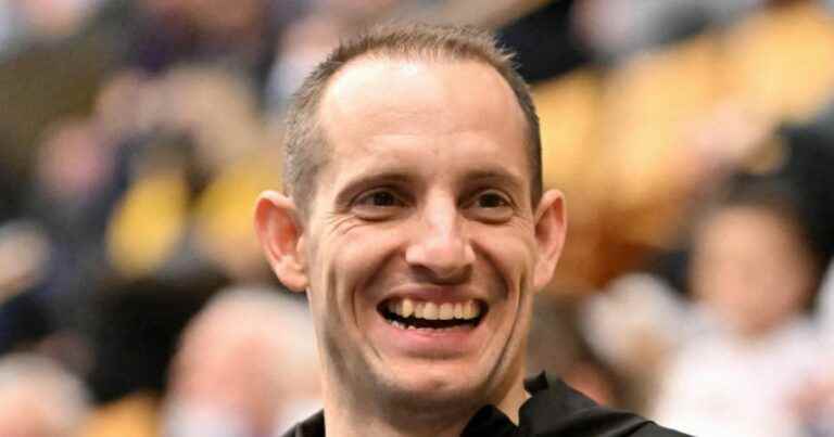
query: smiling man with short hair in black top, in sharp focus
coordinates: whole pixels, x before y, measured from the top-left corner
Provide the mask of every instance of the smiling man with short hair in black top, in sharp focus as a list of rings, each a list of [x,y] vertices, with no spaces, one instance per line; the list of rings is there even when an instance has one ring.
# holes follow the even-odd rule
[[[263,193],[255,224],[307,293],[325,408],[288,436],[679,435],[543,376],[525,391],[565,206],[542,192],[535,111],[491,37],[378,28],[289,111],[287,193]]]

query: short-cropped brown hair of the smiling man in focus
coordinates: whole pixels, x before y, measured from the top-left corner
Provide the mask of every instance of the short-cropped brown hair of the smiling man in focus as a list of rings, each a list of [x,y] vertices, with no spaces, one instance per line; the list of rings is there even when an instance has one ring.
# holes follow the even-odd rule
[[[283,184],[302,215],[315,194],[316,177],[326,164],[327,145],[318,120],[319,102],[332,78],[345,64],[363,55],[429,60],[478,61],[493,67],[509,85],[528,124],[528,155],[533,205],[542,195],[542,146],[539,117],[525,79],[516,72],[513,52],[495,37],[473,27],[399,24],[377,26],[343,41],[311,73],[287,110]]]

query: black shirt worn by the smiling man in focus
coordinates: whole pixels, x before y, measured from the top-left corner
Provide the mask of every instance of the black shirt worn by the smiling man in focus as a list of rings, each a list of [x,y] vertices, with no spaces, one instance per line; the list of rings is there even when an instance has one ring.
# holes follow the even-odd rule
[[[460,437],[686,437],[636,414],[596,404],[544,373],[525,382],[532,395],[519,410],[516,426],[493,406],[478,410]],[[283,437],[325,437],[325,414],[288,430]]]

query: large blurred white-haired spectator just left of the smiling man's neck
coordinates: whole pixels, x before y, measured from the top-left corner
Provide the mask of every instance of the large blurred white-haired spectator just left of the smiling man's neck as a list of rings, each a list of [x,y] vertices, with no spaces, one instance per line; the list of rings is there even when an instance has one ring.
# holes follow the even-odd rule
[[[224,291],[189,324],[164,436],[279,436],[320,408],[312,322],[301,303],[278,293]]]

